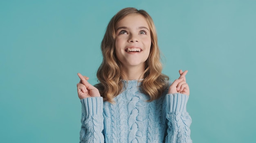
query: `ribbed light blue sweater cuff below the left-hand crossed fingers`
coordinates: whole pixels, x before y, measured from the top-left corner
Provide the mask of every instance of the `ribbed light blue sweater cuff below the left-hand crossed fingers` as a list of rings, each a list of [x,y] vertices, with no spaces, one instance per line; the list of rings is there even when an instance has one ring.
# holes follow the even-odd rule
[[[81,99],[82,103],[82,113],[83,115],[99,115],[103,114],[103,98],[102,97],[92,97]]]

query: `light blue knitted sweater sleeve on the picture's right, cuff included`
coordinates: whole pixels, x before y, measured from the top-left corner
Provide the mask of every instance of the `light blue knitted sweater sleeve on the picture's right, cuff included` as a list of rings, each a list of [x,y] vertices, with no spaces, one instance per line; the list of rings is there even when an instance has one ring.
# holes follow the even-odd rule
[[[191,117],[186,111],[188,95],[174,93],[166,95],[166,118],[168,129],[166,143],[192,143],[190,138]]]

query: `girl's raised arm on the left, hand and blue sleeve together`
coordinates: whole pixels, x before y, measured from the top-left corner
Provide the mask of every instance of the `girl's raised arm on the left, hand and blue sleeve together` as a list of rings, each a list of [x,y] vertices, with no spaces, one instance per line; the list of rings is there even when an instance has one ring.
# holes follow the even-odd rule
[[[88,77],[78,76],[81,80],[77,84],[77,93],[82,104],[80,143],[104,143],[103,98],[87,81]]]

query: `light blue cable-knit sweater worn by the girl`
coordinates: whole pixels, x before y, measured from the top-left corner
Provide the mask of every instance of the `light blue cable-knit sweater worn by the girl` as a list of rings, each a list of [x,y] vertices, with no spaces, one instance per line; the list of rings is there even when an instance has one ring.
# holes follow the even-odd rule
[[[102,97],[82,99],[80,143],[192,143],[189,96],[166,89],[161,98],[147,102],[140,83],[124,82],[115,104]]]

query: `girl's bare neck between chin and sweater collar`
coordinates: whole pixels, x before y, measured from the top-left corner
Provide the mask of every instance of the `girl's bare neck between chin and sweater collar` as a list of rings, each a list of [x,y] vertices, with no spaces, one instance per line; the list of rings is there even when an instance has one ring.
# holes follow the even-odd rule
[[[139,80],[144,78],[144,76],[142,75],[144,72],[144,68],[138,68],[138,67],[124,67],[123,68],[123,74],[124,80]]]

